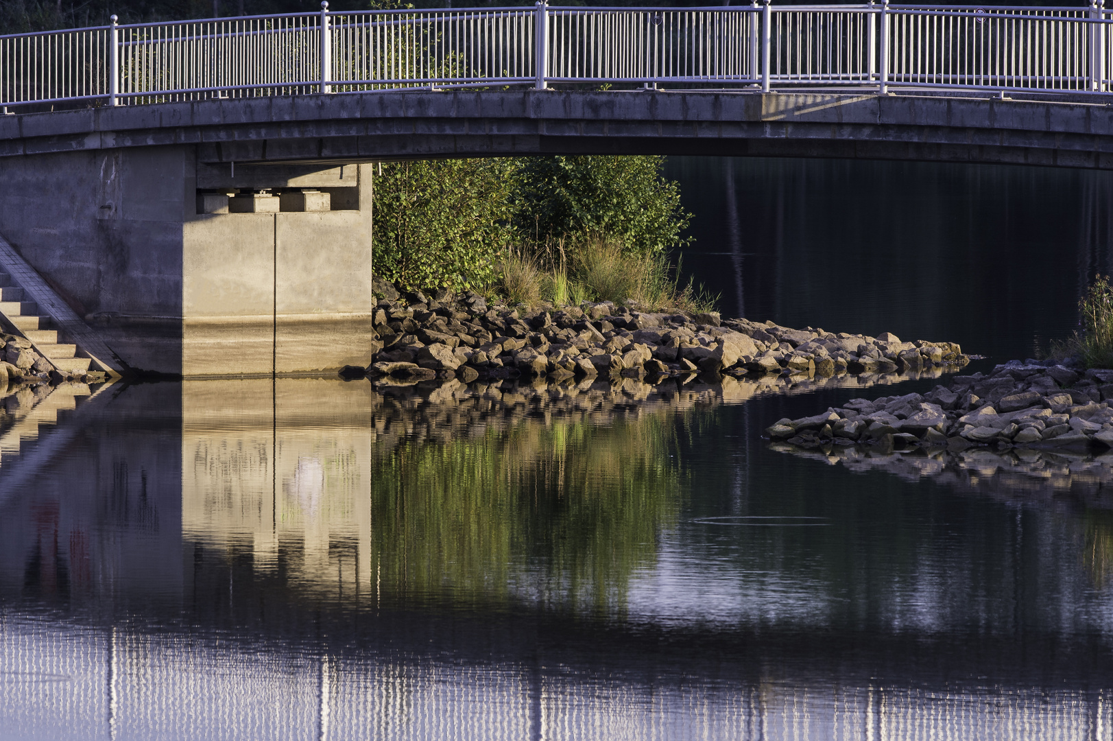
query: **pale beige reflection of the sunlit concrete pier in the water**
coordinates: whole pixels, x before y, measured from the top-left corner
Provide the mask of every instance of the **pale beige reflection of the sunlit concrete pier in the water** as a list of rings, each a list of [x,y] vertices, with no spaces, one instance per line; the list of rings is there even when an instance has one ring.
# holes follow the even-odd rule
[[[377,406],[368,383],[183,383],[184,537],[250,553],[257,571],[277,567],[279,540],[297,543],[298,579],[366,591]]]

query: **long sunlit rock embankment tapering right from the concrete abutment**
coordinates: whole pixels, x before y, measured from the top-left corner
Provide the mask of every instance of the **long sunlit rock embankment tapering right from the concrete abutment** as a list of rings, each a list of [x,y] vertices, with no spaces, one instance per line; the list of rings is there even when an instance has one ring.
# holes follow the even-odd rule
[[[969,359],[952,342],[900,342],[884,333],[795,330],[723,320],[717,312],[642,312],[611,302],[523,310],[474,293],[408,293],[380,301],[367,368],[345,378],[401,381],[548,378],[663,379],[700,374],[826,378],[957,369]]]

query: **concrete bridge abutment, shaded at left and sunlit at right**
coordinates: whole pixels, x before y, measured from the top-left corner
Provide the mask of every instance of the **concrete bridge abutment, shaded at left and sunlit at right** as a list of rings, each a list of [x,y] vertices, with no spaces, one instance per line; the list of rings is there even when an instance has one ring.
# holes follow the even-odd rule
[[[375,303],[371,166],[346,168],[344,185],[355,187],[342,189],[359,195],[345,211],[197,214],[195,150],[4,158],[0,234],[126,370],[196,377],[370,362],[359,348]]]

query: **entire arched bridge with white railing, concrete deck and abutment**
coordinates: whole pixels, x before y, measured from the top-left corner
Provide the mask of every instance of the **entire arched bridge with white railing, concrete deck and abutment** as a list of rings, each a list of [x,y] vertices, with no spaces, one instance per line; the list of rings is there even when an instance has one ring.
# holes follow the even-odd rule
[[[0,313],[96,334],[93,357],[122,372],[364,363],[375,162],[607,153],[1110,169],[1111,25],[1100,6],[322,3],[0,37],[0,237],[13,247],[0,270],[30,276]]]

